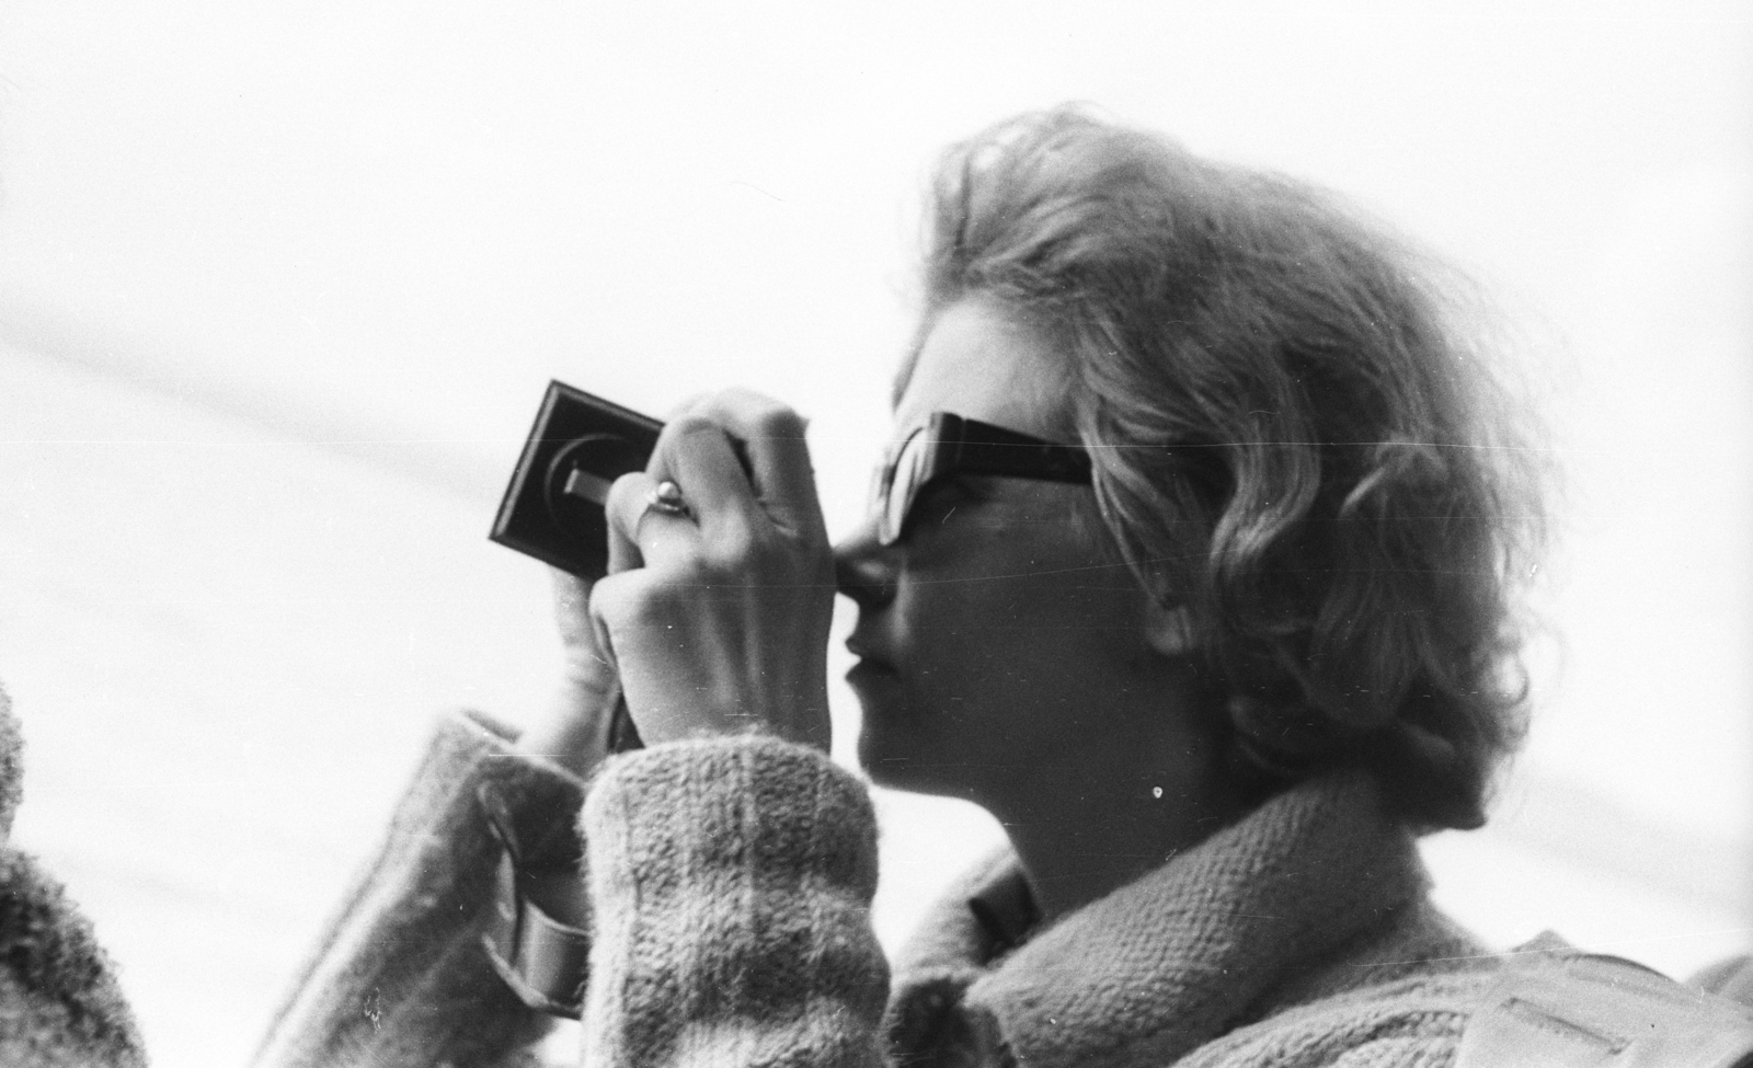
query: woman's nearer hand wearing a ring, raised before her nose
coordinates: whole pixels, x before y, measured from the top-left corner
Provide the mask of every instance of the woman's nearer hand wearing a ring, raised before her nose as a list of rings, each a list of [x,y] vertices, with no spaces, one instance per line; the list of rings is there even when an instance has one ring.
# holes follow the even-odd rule
[[[827,749],[834,566],[803,428],[764,396],[708,396],[608,495],[591,616],[647,744],[764,731]],[[687,514],[650,507],[663,481]]]

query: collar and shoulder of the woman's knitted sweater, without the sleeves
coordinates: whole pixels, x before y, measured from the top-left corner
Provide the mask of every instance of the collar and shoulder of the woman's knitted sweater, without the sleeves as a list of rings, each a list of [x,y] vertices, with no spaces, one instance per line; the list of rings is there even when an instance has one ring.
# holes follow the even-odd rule
[[[903,951],[899,1061],[1444,1064],[1494,966],[1362,775],[1280,794],[1004,952],[968,901],[1020,879],[994,858]]]

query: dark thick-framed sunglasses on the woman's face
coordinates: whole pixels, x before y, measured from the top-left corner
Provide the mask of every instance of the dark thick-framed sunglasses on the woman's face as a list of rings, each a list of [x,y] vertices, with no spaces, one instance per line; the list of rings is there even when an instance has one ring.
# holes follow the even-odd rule
[[[938,479],[955,473],[1089,484],[1090,458],[1078,445],[933,412],[898,445],[891,445],[871,484],[869,510],[876,542],[894,545],[906,530],[913,502]]]

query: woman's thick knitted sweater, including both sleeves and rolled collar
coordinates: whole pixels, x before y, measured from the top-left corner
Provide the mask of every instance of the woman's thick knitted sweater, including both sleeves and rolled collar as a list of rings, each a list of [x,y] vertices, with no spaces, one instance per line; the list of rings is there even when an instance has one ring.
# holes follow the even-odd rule
[[[577,784],[503,747],[466,721],[440,733],[259,1063],[503,1064],[540,1035],[480,947],[491,842],[470,798],[486,779],[545,803]],[[1040,931],[992,922],[1024,900],[996,858],[899,956],[887,1008],[875,821],[824,756],[759,738],[626,754],[580,829],[593,1068],[1441,1066],[1495,966],[1429,905],[1362,777],[1274,798]]]

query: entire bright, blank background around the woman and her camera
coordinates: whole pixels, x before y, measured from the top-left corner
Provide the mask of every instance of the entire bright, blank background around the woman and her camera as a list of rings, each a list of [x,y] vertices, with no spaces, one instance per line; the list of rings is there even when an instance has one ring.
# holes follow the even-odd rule
[[[550,642],[540,568],[482,537],[545,382],[789,400],[845,530],[934,153],[1062,100],[1341,189],[1492,295],[1565,475],[1520,765],[1546,838],[1439,877],[1494,938],[1537,912],[1674,968],[1746,945],[1636,844],[1720,903],[1720,844],[1753,840],[1753,4],[5,0],[21,835],[161,1057],[254,1038],[431,705],[545,686],[500,677]],[[158,440],[79,447],[128,433]],[[1511,791],[1467,838],[1515,821]],[[1557,872],[1576,829],[1665,898]],[[952,852],[889,852],[885,893]]]

